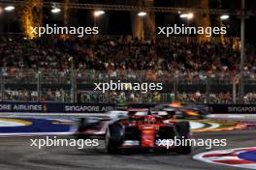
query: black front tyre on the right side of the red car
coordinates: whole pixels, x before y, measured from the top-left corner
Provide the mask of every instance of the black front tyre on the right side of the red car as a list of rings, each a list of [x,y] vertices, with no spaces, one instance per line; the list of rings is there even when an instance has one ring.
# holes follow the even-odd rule
[[[179,122],[176,124],[176,130],[178,132],[178,139],[188,139],[190,133],[190,126],[188,122]],[[179,155],[189,155],[192,151],[191,146],[178,146],[176,148],[176,153]]]

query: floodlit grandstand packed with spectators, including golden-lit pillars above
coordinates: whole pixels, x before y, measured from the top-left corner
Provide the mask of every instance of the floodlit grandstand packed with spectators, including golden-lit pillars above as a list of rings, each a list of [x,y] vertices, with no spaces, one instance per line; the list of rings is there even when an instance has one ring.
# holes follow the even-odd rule
[[[4,16],[21,13],[19,20],[4,19],[0,26],[2,100],[170,102],[179,99],[201,103],[233,103],[239,99],[251,103],[256,100],[254,42],[249,41],[251,43],[243,46],[238,38],[241,30],[229,27],[227,35],[208,39],[204,35],[170,38],[157,35],[157,26],[167,23],[227,27],[230,23],[237,23],[240,18],[236,15],[242,11],[233,7],[225,9],[225,1],[200,2],[198,5],[203,7],[202,11],[196,0],[188,4],[182,1],[165,4],[167,8],[161,7],[158,1],[131,1],[119,6],[117,1],[112,2],[112,6],[106,2],[82,4],[64,1],[56,2],[50,13],[52,4],[48,1],[16,1],[12,3],[14,6],[11,1],[0,2]],[[81,18],[75,19],[74,16],[81,12],[87,14],[86,24],[100,28],[100,35],[78,37],[61,34],[39,38],[28,29],[29,26],[53,23],[80,26]],[[254,9],[248,12],[253,15]],[[112,13],[125,15],[124,18],[130,15],[130,28],[113,36],[112,31],[108,31],[112,26],[106,26],[116,19]],[[164,19],[161,19],[162,13],[165,13]],[[191,17],[183,17],[184,14]],[[245,18],[245,14],[242,16]],[[218,17],[218,22],[213,17]],[[17,23],[21,27],[17,27]],[[127,23],[127,19],[123,19],[115,26]],[[242,57],[241,49],[245,51]],[[161,92],[147,94],[93,91],[94,82],[111,79],[162,82],[164,88]]]

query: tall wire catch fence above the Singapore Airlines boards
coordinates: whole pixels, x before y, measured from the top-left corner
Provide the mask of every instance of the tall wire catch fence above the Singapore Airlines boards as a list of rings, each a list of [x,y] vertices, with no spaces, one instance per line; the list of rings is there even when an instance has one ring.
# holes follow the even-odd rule
[[[236,103],[239,100],[238,72],[181,72],[181,71],[80,71],[80,70],[1,70],[0,99],[5,101],[58,102],[184,102]],[[161,82],[163,90],[94,91],[94,83],[121,80],[122,82]],[[243,72],[243,102],[256,102],[256,73]]]

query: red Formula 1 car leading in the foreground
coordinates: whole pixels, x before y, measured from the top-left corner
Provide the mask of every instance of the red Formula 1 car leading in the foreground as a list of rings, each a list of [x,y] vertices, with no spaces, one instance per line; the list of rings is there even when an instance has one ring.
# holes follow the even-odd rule
[[[156,115],[131,115],[112,122],[107,128],[105,141],[108,153],[115,154],[125,149],[166,149],[163,141],[187,139],[189,135],[187,122],[164,123],[163,118]],[[191,146],[171,147],[178,154],[191,153]]]

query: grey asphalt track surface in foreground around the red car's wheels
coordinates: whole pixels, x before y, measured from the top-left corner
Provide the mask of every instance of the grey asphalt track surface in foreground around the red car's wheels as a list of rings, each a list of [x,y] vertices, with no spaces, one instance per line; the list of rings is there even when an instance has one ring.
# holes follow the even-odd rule
[[[232,148],[255,147],[256,129],[216,132],[196,132],[194,138],[226,138],[226,147],[212,148],[224,150]],[[67,136],[71,138],[73,136]],[[240,169],[225,165],[216,165],[194,160],[192,156],[207,152],[202,147],[195,147],[192,155],[179,156],[176,153],[129,153],[125,155],[107,155],[101,141],[97,148],[78,150],[75,147],[46,147],[39,150],[30,147],[31,137],[0,138],[0,169],[107,169],[107,170],[228,170]],[[33,138],[42,138],[36,136]],[[43,137],[44,138],[44,137]]]

